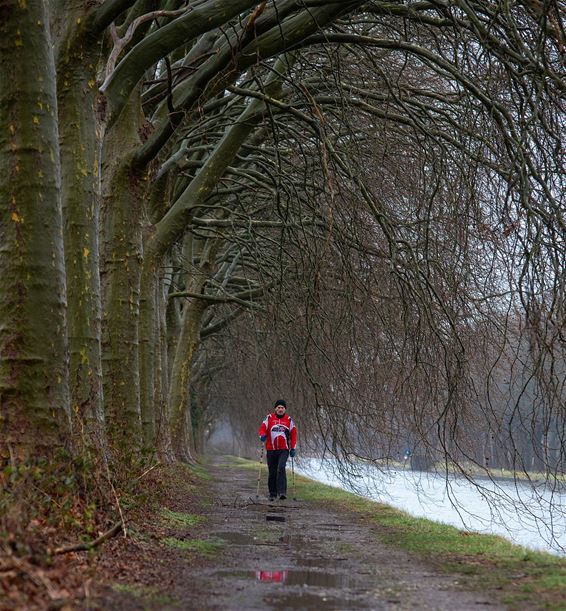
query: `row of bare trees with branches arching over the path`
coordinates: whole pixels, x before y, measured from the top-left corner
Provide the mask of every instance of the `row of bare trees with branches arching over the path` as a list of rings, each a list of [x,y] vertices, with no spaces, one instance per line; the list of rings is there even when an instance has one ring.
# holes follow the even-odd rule
[[[2,460],[190,460],[275,391],[336,455],[478,460],[519,345],[559,431],[562,20],[0,0]]]

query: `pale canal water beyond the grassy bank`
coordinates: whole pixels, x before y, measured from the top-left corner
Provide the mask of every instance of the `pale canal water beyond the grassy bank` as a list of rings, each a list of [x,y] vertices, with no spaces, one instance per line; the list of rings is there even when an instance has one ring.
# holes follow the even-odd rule
[[[492,481],[369,464],[344,467],[302,458],[295,471],[330,486],[387,503],[412,516],[501,535],[513,543],[566,555],[566,494],[544,482]]]

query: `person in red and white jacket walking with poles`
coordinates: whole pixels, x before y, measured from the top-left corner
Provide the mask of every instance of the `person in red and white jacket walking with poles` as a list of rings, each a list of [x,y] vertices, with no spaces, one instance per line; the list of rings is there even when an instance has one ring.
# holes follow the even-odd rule
[[[297,427],[287,414],[287,403],[283,399],[275,401],[273,413],[268,414],[259,427],[259,438],[265,442],[269,478],[269,500],[277,497],[287,498],[287,474],[285,465],[289,456],[295,456]]]

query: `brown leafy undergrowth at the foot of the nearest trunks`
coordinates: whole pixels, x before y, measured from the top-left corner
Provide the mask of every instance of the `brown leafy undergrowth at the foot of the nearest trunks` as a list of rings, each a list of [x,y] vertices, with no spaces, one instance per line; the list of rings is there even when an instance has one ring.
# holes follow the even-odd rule
[[[157,507],[157,471],[147,456],[108,465],[63,450],[0,469],[0,609],[43,609],[84,595],[89,555],[57,550],[90,544]]]

